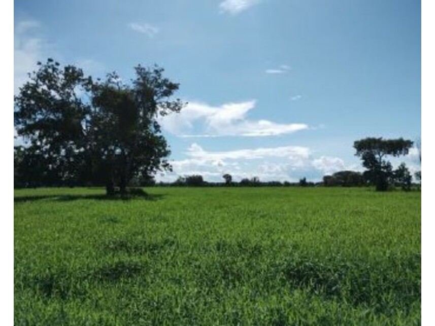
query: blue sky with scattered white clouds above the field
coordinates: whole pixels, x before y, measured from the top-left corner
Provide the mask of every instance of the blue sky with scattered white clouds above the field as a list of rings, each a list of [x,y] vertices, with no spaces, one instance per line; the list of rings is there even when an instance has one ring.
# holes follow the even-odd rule
[[[173,173],[320,180],[353,141],[421,136],[421,7],[408,0],[14,2],[14,91],[38,60],[92,76],[157,63],[189,104]],[[415,151],[405,161],[420,169]]]

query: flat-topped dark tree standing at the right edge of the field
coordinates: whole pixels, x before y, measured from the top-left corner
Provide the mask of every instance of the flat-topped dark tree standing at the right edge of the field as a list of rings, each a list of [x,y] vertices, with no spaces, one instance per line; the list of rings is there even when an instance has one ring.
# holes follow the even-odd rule
[[[412,144],[411,140],[403,138],[368,137],[356,140],[353,147],[355,155],[361,157],[362,165],[367,169],[364,177],[376,186],[376,190],[385,191],[394,181],[392,165],[385,157],[407,155]]]

